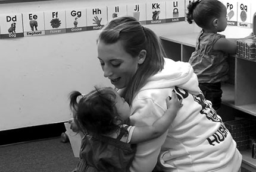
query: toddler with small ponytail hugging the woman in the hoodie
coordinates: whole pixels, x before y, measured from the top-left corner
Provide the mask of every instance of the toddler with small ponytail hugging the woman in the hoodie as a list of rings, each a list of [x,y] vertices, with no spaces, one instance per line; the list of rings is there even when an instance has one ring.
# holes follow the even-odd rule
[[[163,135],[182,107],[174,90],[166,103],[166,113],[151,126],[130,126],[124,124],[129,120],[130,106],[113,88],[96,88],[87,95],[73,91],[70,109],[76,130],[85,134],[73,171],[129,171],[136,151],[132,144]]]

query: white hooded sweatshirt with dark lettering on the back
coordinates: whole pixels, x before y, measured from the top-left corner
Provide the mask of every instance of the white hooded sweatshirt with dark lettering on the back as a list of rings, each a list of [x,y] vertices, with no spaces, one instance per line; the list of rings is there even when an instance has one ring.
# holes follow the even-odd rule
[[[131,125],[152,125],[167,109],[166,98],[176,91],[183,106],[168,132],[138,144],[130,171],[236,172],[242,155],[220,116],[198,87],[189,63],[165,59],[163,71],[149,78],[132,102]],[[161,153],[160,153],[161,149]]]

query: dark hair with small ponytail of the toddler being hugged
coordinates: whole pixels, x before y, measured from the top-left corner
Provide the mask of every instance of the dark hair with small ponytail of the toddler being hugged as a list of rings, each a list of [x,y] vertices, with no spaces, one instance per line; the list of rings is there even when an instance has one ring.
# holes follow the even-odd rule
[[[113,122],[118,116],[115,109],[115,93],[110,87],[96,88],[89,94],[70,93],[70,109],[76,112],[74,121],[82,132],[97,135],[115,132],[119,126]]]

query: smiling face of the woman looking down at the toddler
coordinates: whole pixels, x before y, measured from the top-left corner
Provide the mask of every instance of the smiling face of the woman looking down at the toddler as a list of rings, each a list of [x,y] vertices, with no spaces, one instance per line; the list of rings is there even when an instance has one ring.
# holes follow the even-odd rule
[[[105,44],[98,41],[98,59],[104,71],[104,77],[110,79],[116,88],[124,88],[138,69],[139,56],[127,53],[121,41]]]

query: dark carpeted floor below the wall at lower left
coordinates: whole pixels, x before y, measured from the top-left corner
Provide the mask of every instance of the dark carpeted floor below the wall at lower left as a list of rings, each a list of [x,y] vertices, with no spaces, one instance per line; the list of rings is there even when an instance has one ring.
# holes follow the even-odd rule
[[[0,146],[3,172],[69,172],[77,161],[70,142],[60,137]]]

